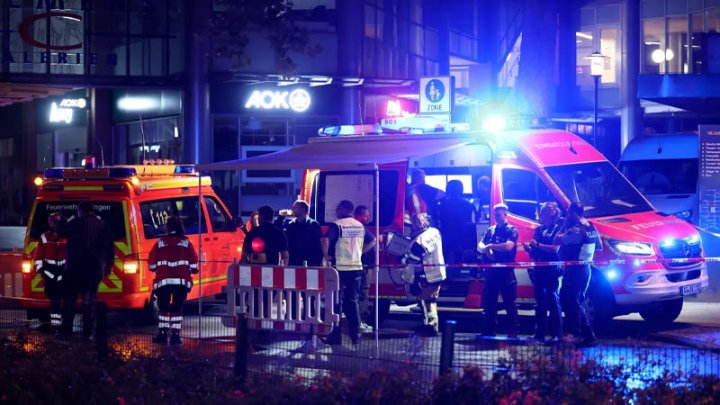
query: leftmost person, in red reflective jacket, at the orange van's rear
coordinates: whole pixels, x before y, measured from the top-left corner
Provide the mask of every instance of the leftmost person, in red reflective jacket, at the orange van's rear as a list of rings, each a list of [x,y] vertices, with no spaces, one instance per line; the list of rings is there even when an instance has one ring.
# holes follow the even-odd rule
[[[50,230],[40,235],[35,250],[35,271],[40,273],[45,284],[45,295],[50,300],[50,323],[44,319],[40,325],[42,331],[59,332],[62,325],[63,274],[65,273],[65,239],[58,234],[62,216],[52,213],[48,216]]]

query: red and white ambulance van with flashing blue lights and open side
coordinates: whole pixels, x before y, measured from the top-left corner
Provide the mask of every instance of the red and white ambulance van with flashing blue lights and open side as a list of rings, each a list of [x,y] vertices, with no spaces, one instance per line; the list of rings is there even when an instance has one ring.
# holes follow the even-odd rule
[[[307,155],[323,170],[308,169],[300,197],[309,201],[311,216],[322,225],[334,220],[335,204],[349,199],[371,208],[375,232],[404,231],[404,199],[410,169],[423,169],[427,182],[440,188],[453,179],[474,197],[479,177],[491,179],[489,206],[505,203],[508,220],[519,231],[519,241],[532,238],[541,204],[557,201],[563,209],[572,201],[586,207],[587,218],[597,227],[603,250],[595,257],[586,309],[597,326],[614,316],[639,312],[650,322],[672,322],[685,297],[699,294],[708,285],[703,246],[694,227],[655,210],[637,189],[592,145],[569,132],[512,130],[497,133],[454,131],[427,133],[422,128],[394,124],[393,134],[382,126],[327,127],[318,138],[298,147],[295,157]],[[400,126],[402,127],[402,125]],[[292,157],[292,153],[287,156]],[[368,156],[377,156],[377,172],[368,167]],[[267,156],[271,158],[271,156]],[[338,169],[333,169],[335,159]],[[358,161],[357,168],[348,164]],[[329,169],[327,167],[330,167]],[[377,184],[379,179],[379,184]],[[379,212],[375,197],[379,192]],[[492,217],[492,216],[490,216]],[[494,221],[488,219],[488,221]],[[491,225],[471,224],[468,246]],[[385,240],[387,242],[387,240]],[[517,262],[529,262],[518,249]],[[380,318],[391,302],[407,302],[401,267],[387,249],[380,255],[378,278],[370,287],[379,291]],[[516,268],[518,304],[531,307],[533,289],[526,268]],[[470,266],[449,268],[439,305],[445,310],[480,311],[479,299],[467,299],[468,286],[482,281],[482,272]],[[471,303],[471,304],[468,304]],[[472,304],[474,303],[474,304]]]

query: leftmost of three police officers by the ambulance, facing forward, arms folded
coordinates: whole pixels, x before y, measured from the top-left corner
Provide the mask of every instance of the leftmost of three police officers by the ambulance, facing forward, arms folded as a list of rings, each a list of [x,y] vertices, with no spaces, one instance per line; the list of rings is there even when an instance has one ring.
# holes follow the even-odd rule
[[[493,213],[495,225],[485,231],[477,250],[486,263],[512,263],[517,253],[518,232],[507,222],[508,206],[495,204]],[[508,336],[517,336],[518,312],[515,306],[517,279],[515,269],[511,267],[488,268],[485,271],[485,289],[483,304],[485,307],[485,326],[483,336],[495,336],[498,294],[502,294],[505,312],[510,323]]]

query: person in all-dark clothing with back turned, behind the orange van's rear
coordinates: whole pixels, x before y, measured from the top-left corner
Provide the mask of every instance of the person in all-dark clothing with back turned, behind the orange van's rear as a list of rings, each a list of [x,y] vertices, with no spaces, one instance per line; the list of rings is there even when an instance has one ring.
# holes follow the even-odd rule
[[[95,215],[90,201],[78,204],[77,214],[58,228],[58,236],[67,238],[60,335],[72,334],[75,300],[79,295],[83,304],[83,335],[90,337],[95,328],[98,287],[102,278],[112,271],[115,246],[110,226]]]

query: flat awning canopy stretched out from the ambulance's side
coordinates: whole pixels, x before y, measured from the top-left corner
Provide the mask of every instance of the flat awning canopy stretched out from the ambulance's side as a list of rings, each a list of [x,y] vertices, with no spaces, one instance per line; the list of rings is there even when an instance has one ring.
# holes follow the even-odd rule
[[[374,135],[319,139],[247,159],[197,165],[197,170],[374,169],[375,165],[428,156],[473,143],[447,135]]]

